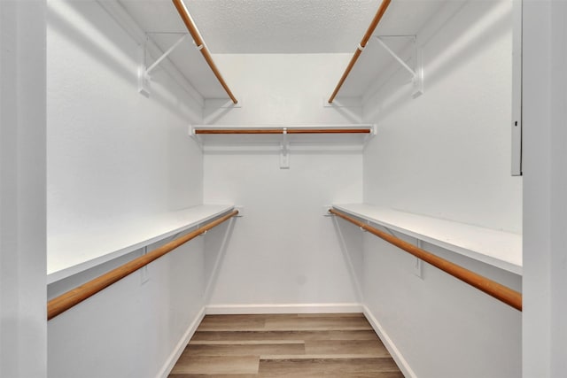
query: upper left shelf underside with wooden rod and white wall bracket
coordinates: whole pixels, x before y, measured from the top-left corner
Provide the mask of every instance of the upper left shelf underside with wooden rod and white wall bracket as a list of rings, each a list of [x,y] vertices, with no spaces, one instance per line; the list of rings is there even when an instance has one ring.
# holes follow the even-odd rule
[[[207,99],[226,99],[225,106],[237,106],[214,64],[206,42],[181,0],[100,0],[140,45],[139,91],[151,96],[151,73],[158,67],[169,73],[201,107]]]

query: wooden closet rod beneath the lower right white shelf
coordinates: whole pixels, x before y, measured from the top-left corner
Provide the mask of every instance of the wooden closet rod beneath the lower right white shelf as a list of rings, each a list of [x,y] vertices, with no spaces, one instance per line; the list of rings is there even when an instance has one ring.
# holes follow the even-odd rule
[[[401,240],[400,238],[387,234],[384,231],[380,231],[377,228],[373,228],[366,223],[361,222],[360,220],[355,220],[354,218],[342,212],[338,212],[335,209],[330,209],[329,212],[331,214],[337,215],[344,220],[348,220],[356,226],[368,231],[372,235],[377,235],[379,238],[384,239],[386,242],[391,243],[396,247],[416,256],[416,258],[421,258],[426,263],[438,267],[443,272],[451,274],[462,282],[466,282],[471,286],[484,291],[489,296],[495,297],[499,301],[514,307],[518,311],[522,311],[522,294],[518,293],[516,290],[510,289],[509,287],[501,285],[498,282],[494,282],[486,278],[485,276],[471,272],[469,269],[465,269],[462,266],[456,265],[451,261],[446,260],[445,258],[439,258],[439,256],[435,256],[434,254],[428,251],[424,251],[413,244]]]

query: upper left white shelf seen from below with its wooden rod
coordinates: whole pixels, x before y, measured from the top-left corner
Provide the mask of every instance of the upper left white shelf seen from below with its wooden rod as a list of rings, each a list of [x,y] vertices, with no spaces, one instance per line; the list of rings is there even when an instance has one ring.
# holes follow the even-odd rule
[[[152,57],[146,59],[147,66],[151,66],[153,61],[160,57],[160,54],[174,46],[183,35],[187,35],[190,26],[186,26],[185,22],[192,22],[189,13],[184,17],[183,10],[177,11],[177,9],[184,9],[181,0],[174,0],[174,2],[170,0],[105,0],[100,4],[115,19],[118,19],[120,25],[125,27],[130,34],[135,34],[136,40],[143,40],[138,42],[148,41],[155,44],[156,49],[150,50]],[[197,43],[203,47],[198,48]],[[207,64],[206,54],[210,58],[206,44],[202,42],[197,28],[194,27],[190,37],[185,38],[175,50],[169,52],[167,58],[184,79],[190,82],[193,89],[202,96],[201,104],[206,98],[231,98],[228,87],[228,90],[223,88],[213,67]],[[236,98],[233,102],[236,103]]]

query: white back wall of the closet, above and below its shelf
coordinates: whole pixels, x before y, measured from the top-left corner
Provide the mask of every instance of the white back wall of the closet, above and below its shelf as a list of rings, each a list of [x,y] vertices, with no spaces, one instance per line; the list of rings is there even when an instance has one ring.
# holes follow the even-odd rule
[[[322,96],[332,91],[348,58],[215,56],[243,106],[206,113],[206,118],[245,126],[352,123],[360,109],[322,106]],[[280,169],[279,153],[269,148],[205,152],[205,201],[245,206],[221,261],[211,305],[276,311],[273,305],[324,304],[330,311],[336,304],[357,303],[333,221],[322,216],[322,206],[361,201],[361,151],[337,152],[329,145],[291,150],[290,169]]]

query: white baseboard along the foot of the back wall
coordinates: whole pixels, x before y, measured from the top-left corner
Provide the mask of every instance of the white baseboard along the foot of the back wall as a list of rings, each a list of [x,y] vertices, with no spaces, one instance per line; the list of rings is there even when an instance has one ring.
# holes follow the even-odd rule
[[[207,305],[207,315],[245,313],[340,313],[362,312],[358,303],[272,304],[272,305]]]

